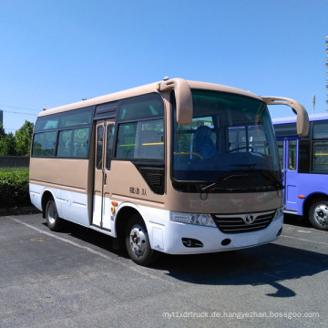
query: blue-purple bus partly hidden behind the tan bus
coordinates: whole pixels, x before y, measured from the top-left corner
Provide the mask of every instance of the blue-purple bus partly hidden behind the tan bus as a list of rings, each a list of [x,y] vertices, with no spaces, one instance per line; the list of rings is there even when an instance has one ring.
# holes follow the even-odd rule
[[[328,231],[328,114],[310,115],[309,135],[298,138],[294,118],[272,120],[283,171],[284,211]]]

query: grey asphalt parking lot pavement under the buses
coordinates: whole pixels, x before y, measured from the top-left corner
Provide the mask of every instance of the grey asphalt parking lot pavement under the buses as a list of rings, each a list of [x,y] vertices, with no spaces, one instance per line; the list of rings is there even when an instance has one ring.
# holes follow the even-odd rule
[[[136,265],[111,238],[0,217],[0,327],[325,327],[328,232],[291,218],[270,244]]]

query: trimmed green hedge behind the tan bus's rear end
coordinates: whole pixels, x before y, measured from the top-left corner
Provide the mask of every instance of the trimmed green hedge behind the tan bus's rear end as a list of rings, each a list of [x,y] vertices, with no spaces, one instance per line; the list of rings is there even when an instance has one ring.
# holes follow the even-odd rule
[[[0,171],[0,208],[30,205],[28,171]]]

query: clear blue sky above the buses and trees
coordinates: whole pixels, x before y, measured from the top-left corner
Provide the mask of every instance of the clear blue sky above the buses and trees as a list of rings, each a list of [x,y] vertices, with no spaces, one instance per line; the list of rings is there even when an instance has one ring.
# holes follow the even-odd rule
[[[328,0],[1,0],[5,132],[163,77],[326,104]],[[290,117],[288,107],[270,108]]]

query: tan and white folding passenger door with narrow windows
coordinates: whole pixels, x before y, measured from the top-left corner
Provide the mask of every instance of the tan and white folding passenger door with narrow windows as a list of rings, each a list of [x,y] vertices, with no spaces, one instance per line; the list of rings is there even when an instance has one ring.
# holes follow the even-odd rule
[[[111,217],[111,171],[113,158],[115,121],[99,120],[96,125],[95,182],[92,224],[112,231]]]

